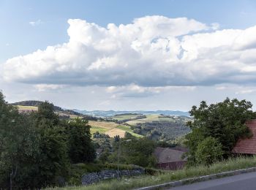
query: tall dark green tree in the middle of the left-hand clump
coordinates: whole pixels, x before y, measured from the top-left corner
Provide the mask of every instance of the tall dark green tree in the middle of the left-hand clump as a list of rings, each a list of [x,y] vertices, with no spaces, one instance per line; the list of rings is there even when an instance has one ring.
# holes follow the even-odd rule
[[[67,135],[54,113],[53,104],[43,102],[38,112],[30,115],[34,128],[39,133],[39,153],[31,159],[28,178],[34,176],[33,186],[56,185],[56,177],[66,177],[69,169]],[[29,181],[29,179],[25,181]]]

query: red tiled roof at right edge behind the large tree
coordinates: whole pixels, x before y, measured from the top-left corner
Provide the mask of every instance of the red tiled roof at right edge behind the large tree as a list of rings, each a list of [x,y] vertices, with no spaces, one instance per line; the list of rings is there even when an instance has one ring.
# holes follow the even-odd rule
[[[241,139],[236,142],[233,153],[256,154],[256,120],[246,122],[253,136],[251,138]]]

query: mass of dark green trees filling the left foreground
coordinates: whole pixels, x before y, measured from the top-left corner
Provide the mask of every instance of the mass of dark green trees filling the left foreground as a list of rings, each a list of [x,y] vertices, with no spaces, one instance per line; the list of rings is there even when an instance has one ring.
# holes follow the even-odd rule
[[[93,161],[87,121],[59,120],[54,106],[39,104],[38,112],[18,113],[0,93],[0,186],[35,189],[68,178],[71,163]]]

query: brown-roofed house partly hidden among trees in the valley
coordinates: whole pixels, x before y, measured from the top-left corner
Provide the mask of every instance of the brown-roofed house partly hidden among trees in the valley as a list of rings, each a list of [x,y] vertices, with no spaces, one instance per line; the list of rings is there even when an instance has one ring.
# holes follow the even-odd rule
[[[184,167],[187,159],[182,159],[182,155],[187,152],[184,148],[162,148],[154,150],[157,158],[157,167],[162,170],[178,170]]]

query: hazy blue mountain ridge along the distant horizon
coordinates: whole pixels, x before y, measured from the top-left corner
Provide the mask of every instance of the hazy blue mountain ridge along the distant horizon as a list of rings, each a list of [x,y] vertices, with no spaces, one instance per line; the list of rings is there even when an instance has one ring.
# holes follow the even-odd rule
[[[173,111],[173,110],[157,110],[157,111],[144,111],[144,110],[135,110],[135,111],[114,111],[114,110],[93,110],[93,111],[87,111],[87,110],[77,110],[73,109],[75,112],[82,113],[85,115],[93,115],[98,117],[112,117],[114,115],[118,114],[124,114],[124,113],[139,113],[143,115],[149,115],[149,114],[155,114],[155,115],[178,115],[178,116],[187,116],[189,117],[188,112],[183,111]]]

